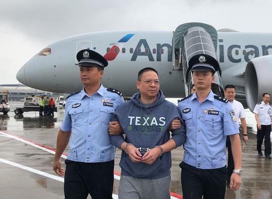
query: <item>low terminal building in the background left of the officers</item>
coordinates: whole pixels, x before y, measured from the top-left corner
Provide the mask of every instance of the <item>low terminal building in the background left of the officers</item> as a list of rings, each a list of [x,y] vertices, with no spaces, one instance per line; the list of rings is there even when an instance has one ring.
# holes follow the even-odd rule
[[[0,92],[8,93],[8,101],[22,101],[27,96],[32,95],[49,95],[59,97],[62,93],[52,93],[35,88],[28,87],[24,84],[0,84]]]

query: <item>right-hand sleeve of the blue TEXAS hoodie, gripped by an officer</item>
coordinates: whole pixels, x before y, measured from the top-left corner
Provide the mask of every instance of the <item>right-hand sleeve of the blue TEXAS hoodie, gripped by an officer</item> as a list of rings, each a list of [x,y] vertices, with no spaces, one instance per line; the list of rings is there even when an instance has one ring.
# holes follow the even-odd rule
[[[180,121],[181,121],[181,128],[178,128],[178,129],[175,129],[175,130],[171,131],[172,132],[172,139],[176,143],[176,148],[178,148],[179,146],[184,144],[185,141],[186,141],[186,128],[185,128],[185,124],[184,124],[184,122],[181,119],[181,116],[179,114],[178,107],[176,105],[174,105],[174,106],[175,107],[173,108],[173,112],[171,114],[172,115],[171,123],[176,118],[180,119]]]

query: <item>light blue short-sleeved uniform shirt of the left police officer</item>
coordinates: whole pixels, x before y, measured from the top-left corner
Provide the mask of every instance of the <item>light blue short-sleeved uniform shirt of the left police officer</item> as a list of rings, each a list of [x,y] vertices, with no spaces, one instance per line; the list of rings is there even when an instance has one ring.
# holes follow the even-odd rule
[[[123,102],[123,97],[108,91],[102,84],[91,96],[83,89],[68,97],[60,127],[62,131],[72,131],[67,159],[80,162],[115,159],[108,127],[113,113]]]

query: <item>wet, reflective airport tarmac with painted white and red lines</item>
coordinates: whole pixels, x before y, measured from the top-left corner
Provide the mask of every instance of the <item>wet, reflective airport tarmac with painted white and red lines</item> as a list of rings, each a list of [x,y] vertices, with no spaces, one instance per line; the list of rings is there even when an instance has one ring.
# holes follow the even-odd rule
[[[23,103],[10,102],[10,106],[13,110]],[[53,149],[63,114],[62,106],[58,106],[54,118],[40,118],[38,112],[0,114],[1,199],[64,199],[63,178],[52,170]],[[272,160],[258,156],[254,115],[246,110],[246,116],[249,140],[247,151],[242,154],[242,185],[238,191],[227,189],[226,199],[271,199]],[[118,172],[121,171],[120,154],[117,150],[115,171]],[[182,195],[179,167],[182,158],[181,147],[173,150],[171,192],[178,195]],[[118,195],[118,186],[119,180],[115,179],[115,195]]]

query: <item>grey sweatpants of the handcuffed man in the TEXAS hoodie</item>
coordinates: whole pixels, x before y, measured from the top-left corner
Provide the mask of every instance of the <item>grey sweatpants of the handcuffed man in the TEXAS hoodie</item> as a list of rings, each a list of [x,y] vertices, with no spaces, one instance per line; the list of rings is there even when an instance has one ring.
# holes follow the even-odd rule
[[[171,176],[142,179],[121,175],[119,199],[170,199]]]

